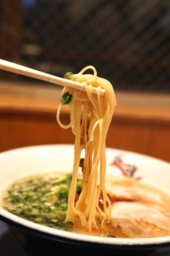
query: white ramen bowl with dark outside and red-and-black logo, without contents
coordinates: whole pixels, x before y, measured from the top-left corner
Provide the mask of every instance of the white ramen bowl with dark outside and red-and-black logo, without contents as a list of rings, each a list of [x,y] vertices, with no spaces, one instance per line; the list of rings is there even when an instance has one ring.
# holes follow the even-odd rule
[[[0,220],[8,226],[12,236],[23,246],[28,255],[54,253],[65,255],[97,253],[122,255],[129,252],[139,255],[170,252],[170,236],[150,238],[109,238],[78,234],[50,228],[20,218],[2,208],[4,191],[20,178],[47,172],[72,171],[74,146],[57,144],[17,148],[0,153]],[[170,196],[170,164],[146,155],[114,148],[106,149],[106,180],[113,177],[141,179],[143,184],[161,190]],[[119,163],[119,164],[117,164]],[[122,168],[117,168],[121,165]],[[124,166],[123,166],[124,165]],[[120,167],[120,166],[119,166]],[[129,177],[122,169],[128,168]],[[60,254],[59,254],[60,252]]]

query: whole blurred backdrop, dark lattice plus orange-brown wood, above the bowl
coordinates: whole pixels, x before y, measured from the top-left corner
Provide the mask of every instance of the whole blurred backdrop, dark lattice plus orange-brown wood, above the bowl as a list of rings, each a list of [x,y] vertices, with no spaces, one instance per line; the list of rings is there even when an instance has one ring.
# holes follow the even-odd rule
[[[60,77],[95,66],[117,98],[106,146],[170,162],[169,0],[0,0],[0,58]],[[74,143],[60,98],[0,70],[0,151]]]

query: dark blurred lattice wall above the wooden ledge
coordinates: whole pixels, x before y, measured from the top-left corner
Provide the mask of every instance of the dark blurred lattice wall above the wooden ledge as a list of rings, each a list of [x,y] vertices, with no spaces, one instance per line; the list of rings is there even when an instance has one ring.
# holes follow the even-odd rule
[[[62,77],[93,65],[117,90],[169,93],[170,1],[1,0],[0,58]]]

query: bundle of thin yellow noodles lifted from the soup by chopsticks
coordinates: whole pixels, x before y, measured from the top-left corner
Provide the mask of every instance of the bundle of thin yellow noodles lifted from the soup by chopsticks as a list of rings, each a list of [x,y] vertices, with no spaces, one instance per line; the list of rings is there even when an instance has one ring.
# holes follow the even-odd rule
[[[89,68],[93,70],[94,74],[83,74]],[[83,83],[86,92],[64,87],[62,96],[66,92],[72,95],[72,100],[69,103],[70,124],[64,126],[59,119],[62,102],[57,110],[59,125],[65,129],[71,127],[75,135],[74,164],[66,221],[74,222],[79,217],[81,226],[90,230],[92,227],[98,228],[98,221],[103,225],[111,217],[111,204],[105,189],[106,135],[116,100],[110,82],[99,78],[93,66],[87,66],[78,74],[72,74],[69,79]],[[92,94],[92,86],[98,88],[96,95]],[[104,96],[100,96],[100,88],[105,90]],[[79,161],[83,152],[83,186],[75,205]],[[99,184],[97,184],[98,176],[100,177]],[[101,210],[98,204],[101,193],[104,210]]]

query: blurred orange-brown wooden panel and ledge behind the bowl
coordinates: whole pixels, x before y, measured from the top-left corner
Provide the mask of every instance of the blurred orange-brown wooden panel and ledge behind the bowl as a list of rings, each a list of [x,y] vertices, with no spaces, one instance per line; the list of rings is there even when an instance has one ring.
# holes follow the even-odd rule
[[[170,96],[118,92],[106,146],[170,162]],[[145,96],[145,98],[144,98]],[[61,88],[0,83],[0,151],[40,144],[73,144],[56,120]],[[146,100],[149,97],[149,100]],[[61,121],[69,122],[68,108]]]

